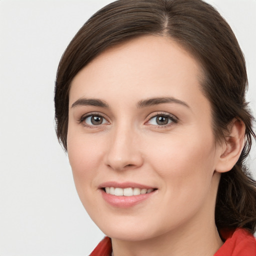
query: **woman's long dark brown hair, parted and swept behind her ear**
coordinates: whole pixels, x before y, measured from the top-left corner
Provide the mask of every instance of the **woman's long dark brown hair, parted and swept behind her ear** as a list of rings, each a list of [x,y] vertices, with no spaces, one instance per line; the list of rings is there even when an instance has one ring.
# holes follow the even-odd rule
[[[132,37],[169,36],[199,61],[202,90],[212,108],[216,141],[234,118],[245,124],[245,145],[234,167],[221,174],[215,222],[218,228],[256,229],[256,183],[244,160],[249,153],[253,117],[245,102],[247,74],[239,44],[220,14],[201,0],[118,0],[97,11],[63,53],[55,82],[56,133],[67,149],[68,93],[77,72],[106,48]]]

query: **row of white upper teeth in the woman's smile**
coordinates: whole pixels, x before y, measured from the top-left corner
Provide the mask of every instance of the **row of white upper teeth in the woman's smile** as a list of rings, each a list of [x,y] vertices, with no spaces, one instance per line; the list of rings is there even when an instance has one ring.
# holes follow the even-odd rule
[[[150,193],[154,189],[153,188],[138,188],[138,187],[126,187],[126,188],[120,188],[120,187],[105,187],[105,191],[107,194],[112,195],[125,195],[125,196],[131,196],[131,195],[139,195],[139,194],[145,194]]]

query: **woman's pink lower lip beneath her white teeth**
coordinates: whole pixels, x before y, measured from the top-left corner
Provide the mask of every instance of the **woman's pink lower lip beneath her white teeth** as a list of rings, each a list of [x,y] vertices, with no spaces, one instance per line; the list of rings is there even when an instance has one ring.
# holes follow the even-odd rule
[[[108,202],[110,205],[120,208],[128,208],[148,199],[152,194],[155,193],[155,191],[156,190],[145,194],[125,196],[107,194],[104,190],[101,189],[101,194],[104,200]]]

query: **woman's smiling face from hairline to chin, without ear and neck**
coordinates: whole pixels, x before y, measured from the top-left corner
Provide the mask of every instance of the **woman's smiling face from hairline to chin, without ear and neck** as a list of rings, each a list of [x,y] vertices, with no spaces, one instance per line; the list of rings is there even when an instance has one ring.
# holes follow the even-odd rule
[[[161,36],[110,48],[74,77],[68,157],[106,235],[143,240],[214,221],[222,149],[200,77],[197,61]]]

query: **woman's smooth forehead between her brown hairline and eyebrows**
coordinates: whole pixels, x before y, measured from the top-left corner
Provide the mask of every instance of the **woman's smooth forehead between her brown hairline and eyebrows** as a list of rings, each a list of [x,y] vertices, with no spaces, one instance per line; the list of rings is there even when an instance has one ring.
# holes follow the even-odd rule
[[[171,38],[141,36],[108,48],[82,68],[72,80],[69,104],[79,97],[116,99],[116,93],[123,99],[155,93],[185,99],[200,93],[201,77],[196,59]]]

